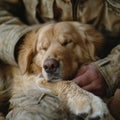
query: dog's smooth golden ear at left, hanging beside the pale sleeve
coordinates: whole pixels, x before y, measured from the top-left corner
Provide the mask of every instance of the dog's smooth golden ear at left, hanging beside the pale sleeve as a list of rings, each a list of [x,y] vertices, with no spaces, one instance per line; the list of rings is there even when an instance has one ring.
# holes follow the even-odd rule
[[[36,42],[38,39],[38,31],[34,30],[29,33],[24,38],[20,50],[18,53],[18,65],[22,74],[28,71],[32,58],[36,52]]]

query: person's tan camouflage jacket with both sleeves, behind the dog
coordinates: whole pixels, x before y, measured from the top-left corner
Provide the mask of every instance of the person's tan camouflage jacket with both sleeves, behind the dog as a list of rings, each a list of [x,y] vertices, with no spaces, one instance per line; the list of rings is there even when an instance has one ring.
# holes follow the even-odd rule
[[[105,35],[105,56],[94,64],[112,95],[120,87],[119,0],[0,0],[0,59],[15,65],[18,40],[38,24],[53,20],[91,24]]]

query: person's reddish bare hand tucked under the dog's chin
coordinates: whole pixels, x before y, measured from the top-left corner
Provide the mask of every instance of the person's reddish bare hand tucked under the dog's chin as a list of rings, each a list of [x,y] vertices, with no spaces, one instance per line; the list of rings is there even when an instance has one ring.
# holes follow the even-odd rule
[[[73,81],[95,95],[103,97],[106,94],[106,82],[94,64],[82,66]]]

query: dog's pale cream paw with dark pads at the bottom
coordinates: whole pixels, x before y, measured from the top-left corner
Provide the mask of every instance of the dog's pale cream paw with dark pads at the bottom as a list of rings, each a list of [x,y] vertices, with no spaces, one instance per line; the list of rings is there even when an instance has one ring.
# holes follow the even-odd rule
[[[74,101],[71,101],[74,100]],[[106,104],[97,96],[81,96],[81,99],[69,99],[68,106],[76,120],[105,120],[109,116]]]

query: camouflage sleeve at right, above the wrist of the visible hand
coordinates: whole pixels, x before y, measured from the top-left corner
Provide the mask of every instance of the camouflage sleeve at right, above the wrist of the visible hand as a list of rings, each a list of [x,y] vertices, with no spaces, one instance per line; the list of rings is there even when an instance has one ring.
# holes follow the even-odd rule
[[[107,94],[111,96],[120,88],[120,44],[104,59],[95,62],[108,85]]]

